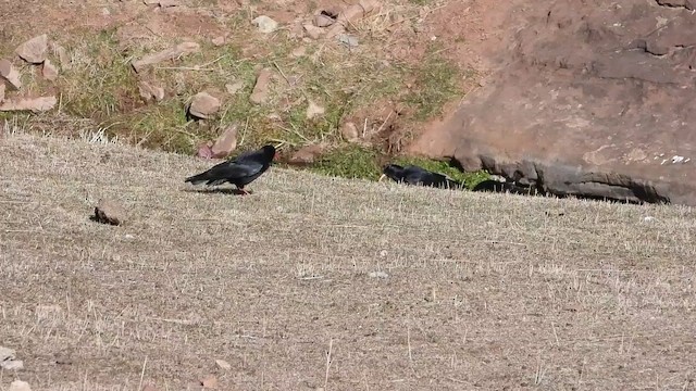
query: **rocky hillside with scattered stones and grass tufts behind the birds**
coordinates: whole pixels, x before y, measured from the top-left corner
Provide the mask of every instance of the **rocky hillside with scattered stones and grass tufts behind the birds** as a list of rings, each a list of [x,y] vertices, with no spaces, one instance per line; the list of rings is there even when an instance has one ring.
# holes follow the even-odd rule
[[[328,173],[375,177],[486,73],[458,61],[453,48],[484,33],[453,28],[452,1],[2,8],[0,119],[204,159],[274,142],[286,162],[321,155]],[[358,155],[360,169],[335,163]]]

